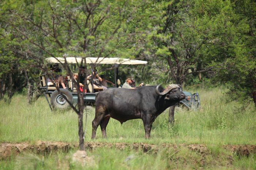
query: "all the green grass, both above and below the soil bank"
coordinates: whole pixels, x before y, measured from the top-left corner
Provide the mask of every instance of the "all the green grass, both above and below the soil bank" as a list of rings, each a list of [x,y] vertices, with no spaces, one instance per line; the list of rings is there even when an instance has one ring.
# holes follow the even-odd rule
[[[189,90],[193,91],[193,90]],[[255,158],[231,153],[223,145],[256,145],[256,110],[251,104],[246,110],[236,102],[226,103],[225,88],[210,91],[197,89],[201,107],[197,111],[177,108],[175,123],[168,123],[168,110],[153,123],[151,138],[144,139],[142,120],[129,120],[121,125],[110,119],[107,139],[103,139],[100,127],[96,142],[205,144],[208,151],[200,154],[187,147],[161,148],[158,151],[125,148],[96,148],[87,150],[97,164],[91,169],[256,169]],[[194,92],[194,91],[193,91]],[[88,115],[85,141],[91,142],[91,121],[95,109],[86,110]],[[85,116],[84,116],[85,117]],[[121,138],[122,137],[122,138]],[[41,97],[29,105],[26,96],[17,94],[10,104],[0,101],[0,142],[78,142],[78,118],[74,111],[50,111]],[[0,169],[83,169],[71,162],[71,155],[58,151],[46,155],[22,152],[0,161]],[[127,157],[132,157],[125,161]],[[90,167],[87,167],[90,169]]]

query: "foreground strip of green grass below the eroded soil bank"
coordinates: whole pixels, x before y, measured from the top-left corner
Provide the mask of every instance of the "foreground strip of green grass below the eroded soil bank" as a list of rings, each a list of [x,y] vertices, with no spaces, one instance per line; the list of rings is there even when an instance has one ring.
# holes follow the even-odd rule
[[[0,168],[12,169],[84,169],[71,161],[75,150],[68,153],[57,152],[49,155],[36,155],[23,152],[7,160],[0,161]],[[156,170],[156,169],[255,169],[256,155],[239,157],[222,148],[211,148],[209,153],[199,154],[186,147],[177,149],[160,149],[157,152],[144,153],[142,150],[119,150],[116,148],[97,148],[87,150],[87,155],[93,157],[94,166],[86,169],[113,170]],[[129,159],[128,159],[129,158]]]

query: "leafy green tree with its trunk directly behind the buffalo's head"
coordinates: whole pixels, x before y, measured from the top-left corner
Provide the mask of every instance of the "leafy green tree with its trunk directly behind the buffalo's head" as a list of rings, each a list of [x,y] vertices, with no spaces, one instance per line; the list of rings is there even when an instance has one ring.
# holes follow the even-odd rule
[[[182,85],[189,74],[217,67],[245,31],[230,1],[175,0],[163,9],[164,21],[153,36],[155,55],[167,64],[176,84]],[[174,122],[174,108],[170,107],[169,122]]]

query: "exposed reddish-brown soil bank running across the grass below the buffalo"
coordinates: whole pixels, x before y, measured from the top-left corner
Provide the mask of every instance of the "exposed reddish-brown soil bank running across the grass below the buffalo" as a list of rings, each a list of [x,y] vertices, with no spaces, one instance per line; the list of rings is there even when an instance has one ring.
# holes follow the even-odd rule
[[[86,142],[86,149],[94,150],[99,147],[115,147],[116,149],[123,150],[125,148],[134,149],[134,150],[143,150],[144,152],[152,151],[156,152],[160,148],[173,148],[178,149],[181,146],[187,147],[191,151],[196,151],[200,154],[208,154],[209,150],[206,145],[203,144],[162,144],[162,145],[153,145],[147,143],[101,143],[101,142]],[[230,150],[239,155],[249,156],[250,154],[256,153],[256,145],[224,145],[224,149]],[[0,143],[0,159],[5,159],[10,157],[12,154],[19,154],[23,151],[33,151],[37,154],[48,154],[56,151],[66,151],[68,152],[71,149],[78,149],[78,143],[67,143],[67,142],[45,142],[37,141],[34,144],[27,142],[23,143]]]

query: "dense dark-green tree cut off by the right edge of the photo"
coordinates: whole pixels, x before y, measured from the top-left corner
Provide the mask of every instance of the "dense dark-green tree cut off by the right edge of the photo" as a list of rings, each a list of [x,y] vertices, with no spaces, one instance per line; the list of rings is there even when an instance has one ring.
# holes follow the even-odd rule
[[[237,40],[230,43],[228,56],[212,80],[229,84],[229,100],[243,103],[243,108],[253,101],[256,107],[256,3],[251,0],[233,1],[233,8],[242,27],[238,28]]]

